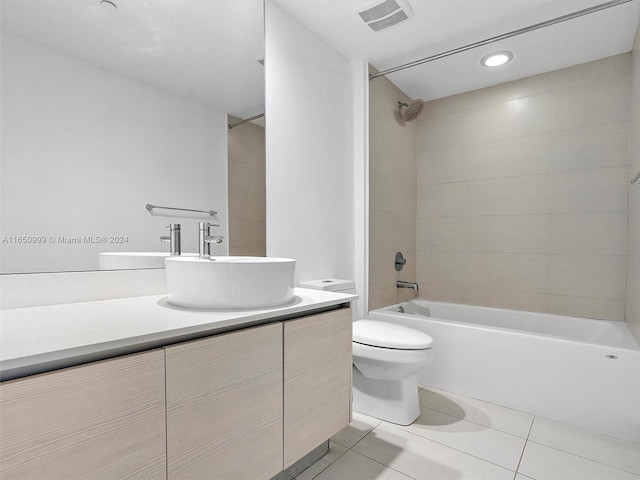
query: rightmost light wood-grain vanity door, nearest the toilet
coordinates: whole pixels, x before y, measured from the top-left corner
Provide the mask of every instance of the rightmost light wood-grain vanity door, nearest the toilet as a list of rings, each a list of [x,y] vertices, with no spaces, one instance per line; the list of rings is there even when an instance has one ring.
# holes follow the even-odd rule
[[[284,322],[284,467],[351,418],[351,309]]]

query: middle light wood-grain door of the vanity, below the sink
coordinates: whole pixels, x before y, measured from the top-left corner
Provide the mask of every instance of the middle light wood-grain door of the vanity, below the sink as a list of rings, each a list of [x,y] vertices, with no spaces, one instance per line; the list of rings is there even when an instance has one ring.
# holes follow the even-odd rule
[[[282,323],[166,348],[170,480],[282,470]]]

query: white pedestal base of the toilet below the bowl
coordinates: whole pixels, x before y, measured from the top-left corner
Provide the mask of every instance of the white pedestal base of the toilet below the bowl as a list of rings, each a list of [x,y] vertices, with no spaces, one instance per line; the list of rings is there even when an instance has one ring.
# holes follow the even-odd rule
[[[353,367],[353,410],[398,425],[410,425],[420,416],[418,379],[365,377]]]

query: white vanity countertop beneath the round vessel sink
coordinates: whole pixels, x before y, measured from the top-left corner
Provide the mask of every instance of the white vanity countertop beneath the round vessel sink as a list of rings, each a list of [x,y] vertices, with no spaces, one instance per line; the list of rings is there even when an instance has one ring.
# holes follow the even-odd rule
[[[264,310],[202,311],[172,307],[166,295],[117,298],[0,311],[2,380],[147,350],[356,299],[295,289],[295,300]]]

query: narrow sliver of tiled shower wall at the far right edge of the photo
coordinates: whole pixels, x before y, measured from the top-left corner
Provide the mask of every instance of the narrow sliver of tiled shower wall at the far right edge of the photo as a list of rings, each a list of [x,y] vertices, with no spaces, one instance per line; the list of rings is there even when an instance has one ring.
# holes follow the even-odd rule
[[[632,55],[631,155],[629,178],[640,171],[640,35]],[[626,321],[640,344],[640,185],[629,186]]]

